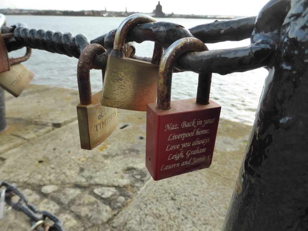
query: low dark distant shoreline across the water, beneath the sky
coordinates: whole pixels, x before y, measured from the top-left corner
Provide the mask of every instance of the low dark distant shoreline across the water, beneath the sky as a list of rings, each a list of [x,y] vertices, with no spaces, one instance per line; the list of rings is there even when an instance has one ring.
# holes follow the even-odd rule
[[[32,16],[84,16],[84,17],[127,17],[131,14],[140,12],[118,12],[106,10],[23,10],[23,9],[0,9],[0,14],[4,15],[32,15]],[[147,13],[155,18],[162,18],[155,16],[154,13]],[[195,14],[166,14],[163,18],[200,18],[200,19],[235,19],[245,16],[234,15],[195,15]]]

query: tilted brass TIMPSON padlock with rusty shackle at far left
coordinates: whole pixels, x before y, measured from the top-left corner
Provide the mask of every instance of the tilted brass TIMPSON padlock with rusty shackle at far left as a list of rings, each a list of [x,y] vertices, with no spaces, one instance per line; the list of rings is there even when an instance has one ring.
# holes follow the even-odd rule
[[[26,68],[21,62],[28,60],[31,56],[31,48],[26,48],[26,54],[19,58],[10,58],[10,70],[0,74],[0,87],[10,94],[18,97],[29,85],[34,73]]]

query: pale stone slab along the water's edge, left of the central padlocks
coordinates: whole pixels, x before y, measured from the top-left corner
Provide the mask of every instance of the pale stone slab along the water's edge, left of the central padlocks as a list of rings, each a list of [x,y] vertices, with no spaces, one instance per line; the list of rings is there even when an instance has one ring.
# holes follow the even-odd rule
[[[7,118],[22,118],[35,124],[52,123],[55,127],[77,119],[76,90],[31,84],[18,98],[6,93],[5,100]]]

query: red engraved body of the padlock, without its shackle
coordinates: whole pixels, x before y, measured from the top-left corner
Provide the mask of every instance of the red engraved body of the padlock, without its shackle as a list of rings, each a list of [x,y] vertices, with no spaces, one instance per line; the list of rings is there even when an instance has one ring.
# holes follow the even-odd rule
[[[146,166],[154,180],[208,168],[212,163],[221,106],[212,100],[171,101],[171,109],[147,107]]]

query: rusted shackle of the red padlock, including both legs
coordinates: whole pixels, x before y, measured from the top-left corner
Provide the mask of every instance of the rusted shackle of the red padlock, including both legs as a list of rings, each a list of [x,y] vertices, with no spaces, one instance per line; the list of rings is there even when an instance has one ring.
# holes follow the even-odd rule
[[[170,109],[171,82],[173,67],[176,60],[189,51],[208,51],[206,45],[196,38],[183,38],[172,43],[161,58],[157,85],[157,108]],[[198,81],[197,100],[199,104],[209,103],[209,87],[212,74],[200,74]],[[204,93],[207,91],[206,93]]]

